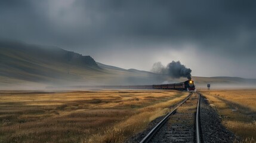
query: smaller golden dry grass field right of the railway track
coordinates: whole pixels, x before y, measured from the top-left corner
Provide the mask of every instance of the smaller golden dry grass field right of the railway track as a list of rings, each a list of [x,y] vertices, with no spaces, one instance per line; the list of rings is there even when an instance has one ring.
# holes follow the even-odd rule
[[[201,91],[241,142],[256,142],[256,90]]]

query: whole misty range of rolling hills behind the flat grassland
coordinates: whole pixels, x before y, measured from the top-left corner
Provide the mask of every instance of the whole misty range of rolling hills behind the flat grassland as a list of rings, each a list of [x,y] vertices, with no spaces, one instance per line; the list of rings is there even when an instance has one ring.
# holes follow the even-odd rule
[[[192,77],[200,88],[255,87],[256,79],[240,77]],[[97,63],[89,55],[54,46],[0,41],[0,88],[45,88],[45,86],[152,85],[183,82],[167,75],[122,69]]]

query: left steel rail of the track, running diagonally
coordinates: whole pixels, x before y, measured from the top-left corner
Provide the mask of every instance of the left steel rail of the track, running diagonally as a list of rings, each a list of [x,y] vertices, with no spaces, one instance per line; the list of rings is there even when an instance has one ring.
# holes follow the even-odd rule
[[[184,102],[186,102],[190,97],[192,96],[192,93],[190,93],[180,104],[178,104],[177,107],[174,108],[174,110],[171,111],[171,113],[167,114],[164,119],[161,120],[161,122],[158,123],[158,125],[155,126],[152,130],[150,130],[149,133],[140,141],[140,143],[146,143],[149,142],[153,135],[167,122],[168,117],[171,116],[171,114],[174,114],[180,105],[182,105]]]

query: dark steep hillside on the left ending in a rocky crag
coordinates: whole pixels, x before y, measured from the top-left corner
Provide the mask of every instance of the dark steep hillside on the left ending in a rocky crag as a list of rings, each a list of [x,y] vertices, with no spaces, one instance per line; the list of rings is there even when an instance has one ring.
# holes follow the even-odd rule
[[[53,46],[30,45],[22,42],[0,41],[1,83],[18,82],[64,83],[81,80],[75,70],[100,72],[95,60]],[[89,74],[90,73],[90,74]],[[63,82],[64,81],[64,82]],[[1,85],[1,84],[0,84]]]

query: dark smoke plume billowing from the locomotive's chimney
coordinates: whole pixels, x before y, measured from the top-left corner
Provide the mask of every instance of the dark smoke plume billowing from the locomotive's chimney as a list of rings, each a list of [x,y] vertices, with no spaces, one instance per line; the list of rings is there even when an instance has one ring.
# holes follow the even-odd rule
[[[153,64],[153,73],[168,74],[174,78],[187,77],[191,79],[191,69],[187,69],[186,66],[180,63],[180,61],[172,61],[166,67],[161,62]]]

